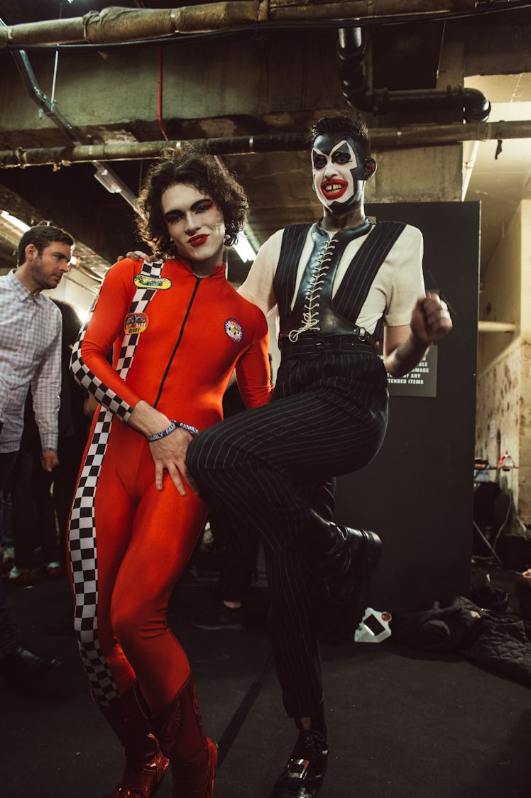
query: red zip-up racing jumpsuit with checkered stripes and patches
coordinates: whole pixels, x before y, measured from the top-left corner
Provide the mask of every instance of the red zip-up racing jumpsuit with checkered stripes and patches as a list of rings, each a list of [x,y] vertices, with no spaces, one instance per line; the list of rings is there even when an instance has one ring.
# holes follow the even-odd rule
[[[74,350],[74,376],[104,407],[81,465],[69,554],[77,636],[97,701],[108,704],[137,679],[149,705],[164,706],[189,674],[168,627],[168,600],[207,508],[190,490],[180,496],[167,472],[157,491],[149,443],[124,421],[144,399],[169,419],[205,429],[223,417],[235,367],[247,407],[269,400],[271,380],[264,314],[228,284],[224,265],[200,279],[187,262],[166,261],[160,279],[148,280],[154,292],[145,312],[132,312],[146,282],[141,267],[130,259],[113,266]],[[124,380],[116,369],[132,331],[137,346]],[[101,429],[109,431],[104,448]],[[93,486],[88,497],[82,484]]]

